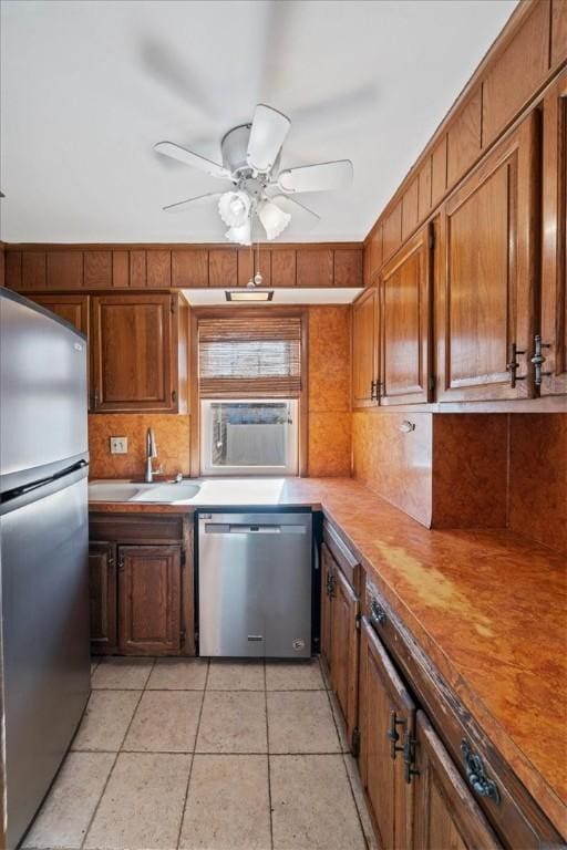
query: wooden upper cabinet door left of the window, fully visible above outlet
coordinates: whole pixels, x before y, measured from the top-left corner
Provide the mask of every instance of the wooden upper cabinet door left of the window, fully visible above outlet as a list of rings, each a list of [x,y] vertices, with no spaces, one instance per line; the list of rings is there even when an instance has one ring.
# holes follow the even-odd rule
[[[93,297],[93,410],[174,411],[177,334],[171,296]]]

